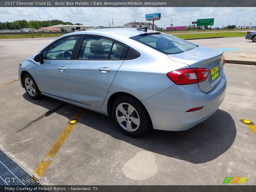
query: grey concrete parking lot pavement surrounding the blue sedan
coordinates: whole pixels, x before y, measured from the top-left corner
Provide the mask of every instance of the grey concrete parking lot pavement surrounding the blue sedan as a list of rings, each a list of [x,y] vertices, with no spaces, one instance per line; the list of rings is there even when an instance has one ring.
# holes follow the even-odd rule
[[[62,179],[60,185],[222,185],[226,177],[248,177],[244,185],[256,185],[256,134],[240,120],[256,123],[256,66],[225,64],[223,103],[192,129],[131,138],[107,116],[48,97],[32,100],[13,81],[19,62],[52,39],[0,40],[0,147],[29,172],[38,173],[75,117],[42,178]]]

